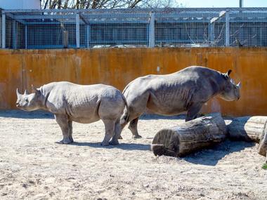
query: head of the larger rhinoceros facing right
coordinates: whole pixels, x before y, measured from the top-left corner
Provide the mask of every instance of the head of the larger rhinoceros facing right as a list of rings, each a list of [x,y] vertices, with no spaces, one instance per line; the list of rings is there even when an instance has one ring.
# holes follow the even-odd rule
[[[237,85],[235,84],[235,81],[230,78],[230,72],[232,70],[229,69],[228,72],[222,74],[224,81],[219,97],[227,101],[239,100],[241,84],[240,82]]]

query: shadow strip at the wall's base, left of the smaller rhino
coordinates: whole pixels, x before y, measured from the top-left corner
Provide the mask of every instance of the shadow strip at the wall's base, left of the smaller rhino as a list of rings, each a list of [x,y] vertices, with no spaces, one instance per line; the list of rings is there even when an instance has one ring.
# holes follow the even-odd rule
[[[54,119],[51,112],[36,110],[32,112],[23,111],[20,109],[1,110],[0,117],[22,118],[22,119]]]

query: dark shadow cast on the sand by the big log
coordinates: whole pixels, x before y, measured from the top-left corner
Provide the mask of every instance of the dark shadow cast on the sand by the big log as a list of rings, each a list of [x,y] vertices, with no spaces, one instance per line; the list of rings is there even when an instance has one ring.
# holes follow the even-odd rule
[[[231,141],[227,139],[219,145],[189,154],[181,159],[193,164],[216,166],[224,156],[233,152],[240,152],[241,150],[247,147],[253,147],[254,145],[254,142]]]

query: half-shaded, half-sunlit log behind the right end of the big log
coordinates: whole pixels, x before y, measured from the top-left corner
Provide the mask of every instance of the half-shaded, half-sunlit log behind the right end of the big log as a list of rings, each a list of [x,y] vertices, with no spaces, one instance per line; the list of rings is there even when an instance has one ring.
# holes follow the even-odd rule
[[[259,143],[266,123],[267,116],[242,116],[234,118],[227,126],[229,138]]]

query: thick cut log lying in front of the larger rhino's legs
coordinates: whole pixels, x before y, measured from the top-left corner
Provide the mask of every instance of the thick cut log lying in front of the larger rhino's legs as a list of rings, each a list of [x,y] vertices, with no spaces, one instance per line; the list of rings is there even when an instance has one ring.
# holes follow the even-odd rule
[[[151,149],[155,156],[185,156],[223,141],[226,133],[226,123],[221,114],[209,114],[158,131]]]

